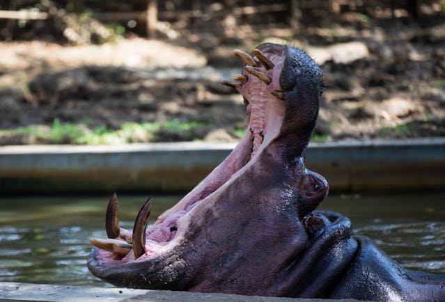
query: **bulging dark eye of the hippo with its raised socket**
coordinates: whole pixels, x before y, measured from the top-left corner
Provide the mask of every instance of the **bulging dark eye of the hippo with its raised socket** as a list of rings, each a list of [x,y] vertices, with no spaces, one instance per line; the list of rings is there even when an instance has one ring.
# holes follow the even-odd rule
[[[303,218],[324,200],[329,191],[325,177],[307,170],[306,177],[299,185],[298,216]]]

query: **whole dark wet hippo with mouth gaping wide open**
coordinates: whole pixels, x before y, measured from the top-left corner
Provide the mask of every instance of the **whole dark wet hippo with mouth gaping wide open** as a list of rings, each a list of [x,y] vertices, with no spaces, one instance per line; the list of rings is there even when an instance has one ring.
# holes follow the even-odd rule
[[[302,49],[235,50],[242,74],[222,84],[244,97],[249,125],[233,152],[147,227],[133,230],[109,200],[107,239],[90,239],[88,269],[120,287],[258,296],[445,301],[445,276],[401,267],[348,218],[315,211],[329,186],[304,166],[318,117],[320,67]]]

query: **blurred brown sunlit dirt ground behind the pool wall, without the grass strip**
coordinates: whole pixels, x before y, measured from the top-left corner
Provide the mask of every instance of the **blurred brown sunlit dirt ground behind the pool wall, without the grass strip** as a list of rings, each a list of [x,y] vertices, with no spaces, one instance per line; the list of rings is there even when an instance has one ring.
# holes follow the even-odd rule
[[[0,43],[0,129],[55,119],[89,129],[178,120],[200,127],[132,141],[236,141],[247,125],[242,97],[219,84],[242,69],[232,51],[283,42],[289,31],[243,28],[231,40],[182,32],[175,40],[88,46]],[[443,18],[370,22],[344,14],[290,42],[307,49],[325,74],[316,140],[445,136]],[[0,135],[1,145],[26,143],[51,142]]]

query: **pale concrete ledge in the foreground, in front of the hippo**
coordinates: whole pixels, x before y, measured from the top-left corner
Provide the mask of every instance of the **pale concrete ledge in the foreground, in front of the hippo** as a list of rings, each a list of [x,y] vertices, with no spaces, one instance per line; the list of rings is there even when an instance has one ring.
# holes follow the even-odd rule
[[[70,285],[45,285],[0,282],[1,301],[357,301],[325,299],[290,299],[264,296],[240,296],[235,294],[201,294],[194,292],[170,292],[167,290],[143,290],[127,288],[81,287]]]

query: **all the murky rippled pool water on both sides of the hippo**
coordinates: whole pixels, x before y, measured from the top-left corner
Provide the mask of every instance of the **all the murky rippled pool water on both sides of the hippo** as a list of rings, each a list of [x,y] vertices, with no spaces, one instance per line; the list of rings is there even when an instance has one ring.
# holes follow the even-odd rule
[[[107,198],[0,198],[0,281],[109,286],[86,268],[88,238],[106,237]],[[153,220],[179,199],[154,196]],[[119,201],[121,225],[132,228],[145,197]],[[405,267],[445,273],[445,193],[329,196],[322,208],[348,216]]]

